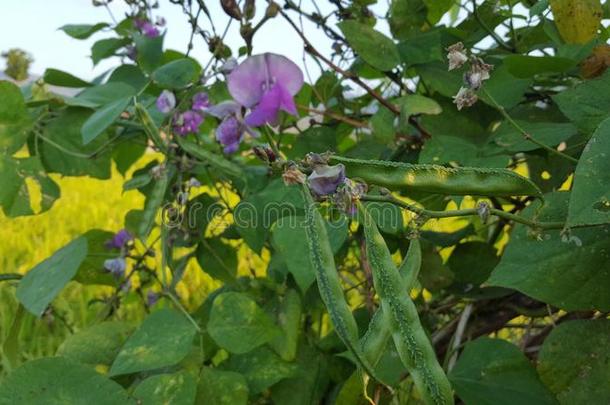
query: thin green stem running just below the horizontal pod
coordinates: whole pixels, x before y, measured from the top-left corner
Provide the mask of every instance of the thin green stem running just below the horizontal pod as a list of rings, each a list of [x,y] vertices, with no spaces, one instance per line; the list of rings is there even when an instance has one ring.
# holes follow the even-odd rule
[[[362,201],[376,201],[376,202],[389,202],[392,204],[396,204],[406,210],[414,212],[417,215],[426,218],[453,218],[453,217],[471,217],[478,216],[479,213],[476,208],[466,208],[461,210],[452,210],[452,211],[432,211],[427,210],[425,208],[420,208],[416,205],[406,203],[392,195],[364,195],[361,197]],[[563,229],[563,222],[538,222],[533,221],[527,218],[524,218],[520,215],[512,214],[510,212],[502,211],[497,208],[490,208],[489,212],[492,215],[498,216],[500,218],[507,219],[509,221],[518,222],[520,224],[529,226],[535,229]]]

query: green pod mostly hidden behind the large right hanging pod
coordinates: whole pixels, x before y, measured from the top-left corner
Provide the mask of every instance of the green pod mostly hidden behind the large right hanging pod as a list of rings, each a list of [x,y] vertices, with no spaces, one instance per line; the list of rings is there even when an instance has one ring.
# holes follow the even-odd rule
[[[421,267],[421,245],[419,239],[413,239],[409,244],[409,250],[404,260],[398,268],[402,281],[404,283],[401,291],[409,293],[415,285],[419,269]],[[388,340],[392,337],[390,320],[384,315],[383,308],[379,308],[369,323],[366,334],[360,340],[362,351],[369,361],[375,367],[385,351]]]

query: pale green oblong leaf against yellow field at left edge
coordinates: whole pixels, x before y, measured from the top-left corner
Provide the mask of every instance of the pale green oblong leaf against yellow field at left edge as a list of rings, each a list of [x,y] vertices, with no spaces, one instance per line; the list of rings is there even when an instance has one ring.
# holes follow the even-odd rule
[[[17,299],[32,314],[41,316],[86,256],[87,239],[74,239],[26,273],[17,287]]]

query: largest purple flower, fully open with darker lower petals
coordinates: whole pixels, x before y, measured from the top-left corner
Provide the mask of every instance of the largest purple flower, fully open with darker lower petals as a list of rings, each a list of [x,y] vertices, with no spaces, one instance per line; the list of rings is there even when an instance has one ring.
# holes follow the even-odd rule
[[[284,56],[251,56],[231,72],[227,82],[235,101],[252,109],[247,125],[277,125],[280,110],[297,115],[293,96],[303,86],[303,72]]]

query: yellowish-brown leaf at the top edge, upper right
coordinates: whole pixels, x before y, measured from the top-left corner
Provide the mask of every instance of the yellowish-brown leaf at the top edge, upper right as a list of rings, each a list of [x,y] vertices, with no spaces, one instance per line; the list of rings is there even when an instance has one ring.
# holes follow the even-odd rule
[[[569,44],[584,44],[595,38],[603,10],[600,0],[550,0],[555,25]]]

